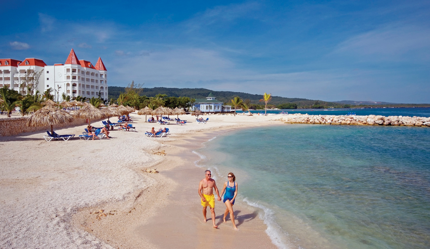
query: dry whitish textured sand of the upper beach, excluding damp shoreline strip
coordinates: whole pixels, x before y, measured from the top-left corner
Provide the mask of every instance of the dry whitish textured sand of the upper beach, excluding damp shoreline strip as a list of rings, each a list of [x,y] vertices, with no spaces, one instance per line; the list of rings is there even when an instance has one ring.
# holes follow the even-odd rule
[[[119,239],[112,243],[109,239],[101,239],[102,235],[95,231],[73,225],[72,217],[79,210],[97,210],[95,207],[102,206],[115,206],[115,210],[105,211],[113,211],[113,216],[127,215],[136,209],[138,198],[153,201],[144,209],[148,211],[146,219],[153,217],[157,208],[164,207],[168,200],[158,200],[143,190],[161,180],[174,186],[166,189],[167,192],[181,186],[161,174],[155,176],[142,172],[143,168],[156,167],[169,156],[152,155],[151,150],[160,150],[165,143],[174,142],[181,136],[191,138],[200,131],[281,124],[274,121],[280,118],[277,115],[210,115],[204,116],[209,117],[205,125],[196,122],[164,125],[170,129],[169,137],[148,138],[144,131],[161,125],[144,123],[144,116],[137,114],[131,117],[135,120],[133,125],[137,132],[113,131],[111,140],[83,141],[75,137],[70,141],[47,143],[42,138],[45,132],[0,137],[0,248],[120,247]],[[189,115],[180,118],[195,120]],[[98,126],[98,123],[93,125]],[[83,128],[69,127],[56,131],[79,135]],[[168,170],[168,167],[164,168]],[[123,225],[127,227],[127,224]],[[157,241],[151,239],[144,241],[146,244],[142,244],[142,248],[157,245]]]

